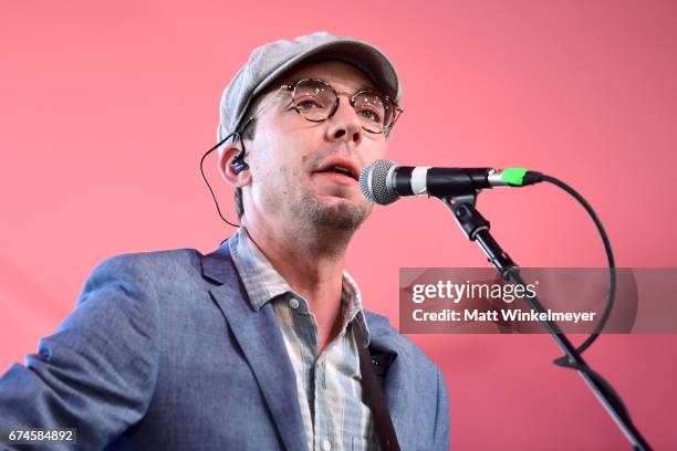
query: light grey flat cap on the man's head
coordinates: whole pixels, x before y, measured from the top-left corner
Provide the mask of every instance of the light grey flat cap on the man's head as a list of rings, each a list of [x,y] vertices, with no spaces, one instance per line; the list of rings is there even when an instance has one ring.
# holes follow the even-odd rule
[[[220,141],[242,125],[251,99],[273,80],[310,57],[344,61],[362,70],[385,94],[399,102],[402,86],[388,57],[374,45],[325,31],[261,45],[221,95],[217,138]]]

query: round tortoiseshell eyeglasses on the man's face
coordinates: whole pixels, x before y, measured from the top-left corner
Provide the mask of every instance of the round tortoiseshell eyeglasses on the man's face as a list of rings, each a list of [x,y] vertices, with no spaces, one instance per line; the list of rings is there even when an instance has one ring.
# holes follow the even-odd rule
[[[334,90],[329,83],[316,78],[303,78],[293,85],[282,85],[290,91],[294,109],[304,119],[324,122],[338,109],[338,94],[347,94],[350,105],[357,113],[362,128],[368,133],[386,133],[397,122],[403,109],[387,95],[376,91],[361,90],[355,94]]]

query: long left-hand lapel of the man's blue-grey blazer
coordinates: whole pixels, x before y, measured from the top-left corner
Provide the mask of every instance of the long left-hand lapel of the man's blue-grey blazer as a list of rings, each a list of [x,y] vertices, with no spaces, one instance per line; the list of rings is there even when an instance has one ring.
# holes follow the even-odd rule
[[[254,311],[232,263],[228,244],[202,258],[202,275],[270,408],[287,450],[305,450],[305,433],[294,369],[270,303]]]

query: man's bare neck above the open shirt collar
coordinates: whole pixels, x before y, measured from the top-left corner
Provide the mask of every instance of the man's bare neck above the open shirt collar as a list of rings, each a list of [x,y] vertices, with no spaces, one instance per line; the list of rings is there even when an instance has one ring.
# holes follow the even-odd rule
[[[288,233],[242,223],[249,238],[290,287],[308,301],[315,316],[320,352],[341,332],[341,293],[347,242],[352,237],[332,231]]]

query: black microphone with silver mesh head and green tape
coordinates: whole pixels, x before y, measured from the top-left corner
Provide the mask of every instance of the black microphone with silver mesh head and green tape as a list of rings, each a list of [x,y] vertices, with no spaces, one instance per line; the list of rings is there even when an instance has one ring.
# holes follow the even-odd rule
[[[404,196],[447,198],[493,187],[523,187],[543,175],[524,168],[430,168],[397,166],[378,159],[360,174],[360,189],[371,202],[387,206]]]

